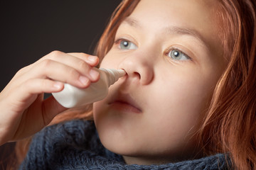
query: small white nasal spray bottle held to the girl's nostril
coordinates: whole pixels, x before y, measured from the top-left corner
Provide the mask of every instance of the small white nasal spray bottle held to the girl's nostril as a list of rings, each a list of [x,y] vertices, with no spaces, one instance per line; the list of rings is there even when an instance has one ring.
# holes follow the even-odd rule
[[[107,96],[110,85],[114,84],[126,72],[123,69],[97,69],[100,79],[91,83],[86,89],[79,89],[70,84],[64,84],[63,91],[53,93],[54,98],[65,108],[74,108],[100,101]]]

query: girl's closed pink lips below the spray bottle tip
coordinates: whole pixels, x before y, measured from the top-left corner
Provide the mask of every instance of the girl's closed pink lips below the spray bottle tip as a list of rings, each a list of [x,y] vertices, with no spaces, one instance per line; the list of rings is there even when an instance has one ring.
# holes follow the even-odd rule
[[[112,98],[110,107],[121,112],[142,113],[142,109],[129,94],[118,94]]]

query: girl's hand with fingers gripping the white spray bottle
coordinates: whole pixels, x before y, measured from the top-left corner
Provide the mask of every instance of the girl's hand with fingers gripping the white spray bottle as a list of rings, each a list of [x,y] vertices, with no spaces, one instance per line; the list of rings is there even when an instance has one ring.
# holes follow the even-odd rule
[[[20,69],[0,93],[0,145],[33,135],[67,108],[44,93],[61,91],[64,83],[86,88],[100,79],[92,67],[95,56],[84,53],[50,52]]]

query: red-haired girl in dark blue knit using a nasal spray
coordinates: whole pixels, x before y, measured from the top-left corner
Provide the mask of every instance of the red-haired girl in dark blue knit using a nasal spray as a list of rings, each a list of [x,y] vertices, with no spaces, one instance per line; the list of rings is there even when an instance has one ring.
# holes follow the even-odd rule
[[[122,1],[96,55],[126,76],[93,108],[61,113],[43,93],[90,86],[99,59],[51,52],[1,92],[1,144],[61,113],[20,169],[255,169],[255,10],[252,0]]]

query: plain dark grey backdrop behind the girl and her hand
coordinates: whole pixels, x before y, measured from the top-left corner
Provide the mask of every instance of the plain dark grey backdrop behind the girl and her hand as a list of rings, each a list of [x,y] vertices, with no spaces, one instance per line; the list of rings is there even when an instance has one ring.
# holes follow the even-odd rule
[[[53,50],[92,54],[121,0],[0,2],[0,91],[14,74]],[[0,169],[15,143],[0,147]]]

